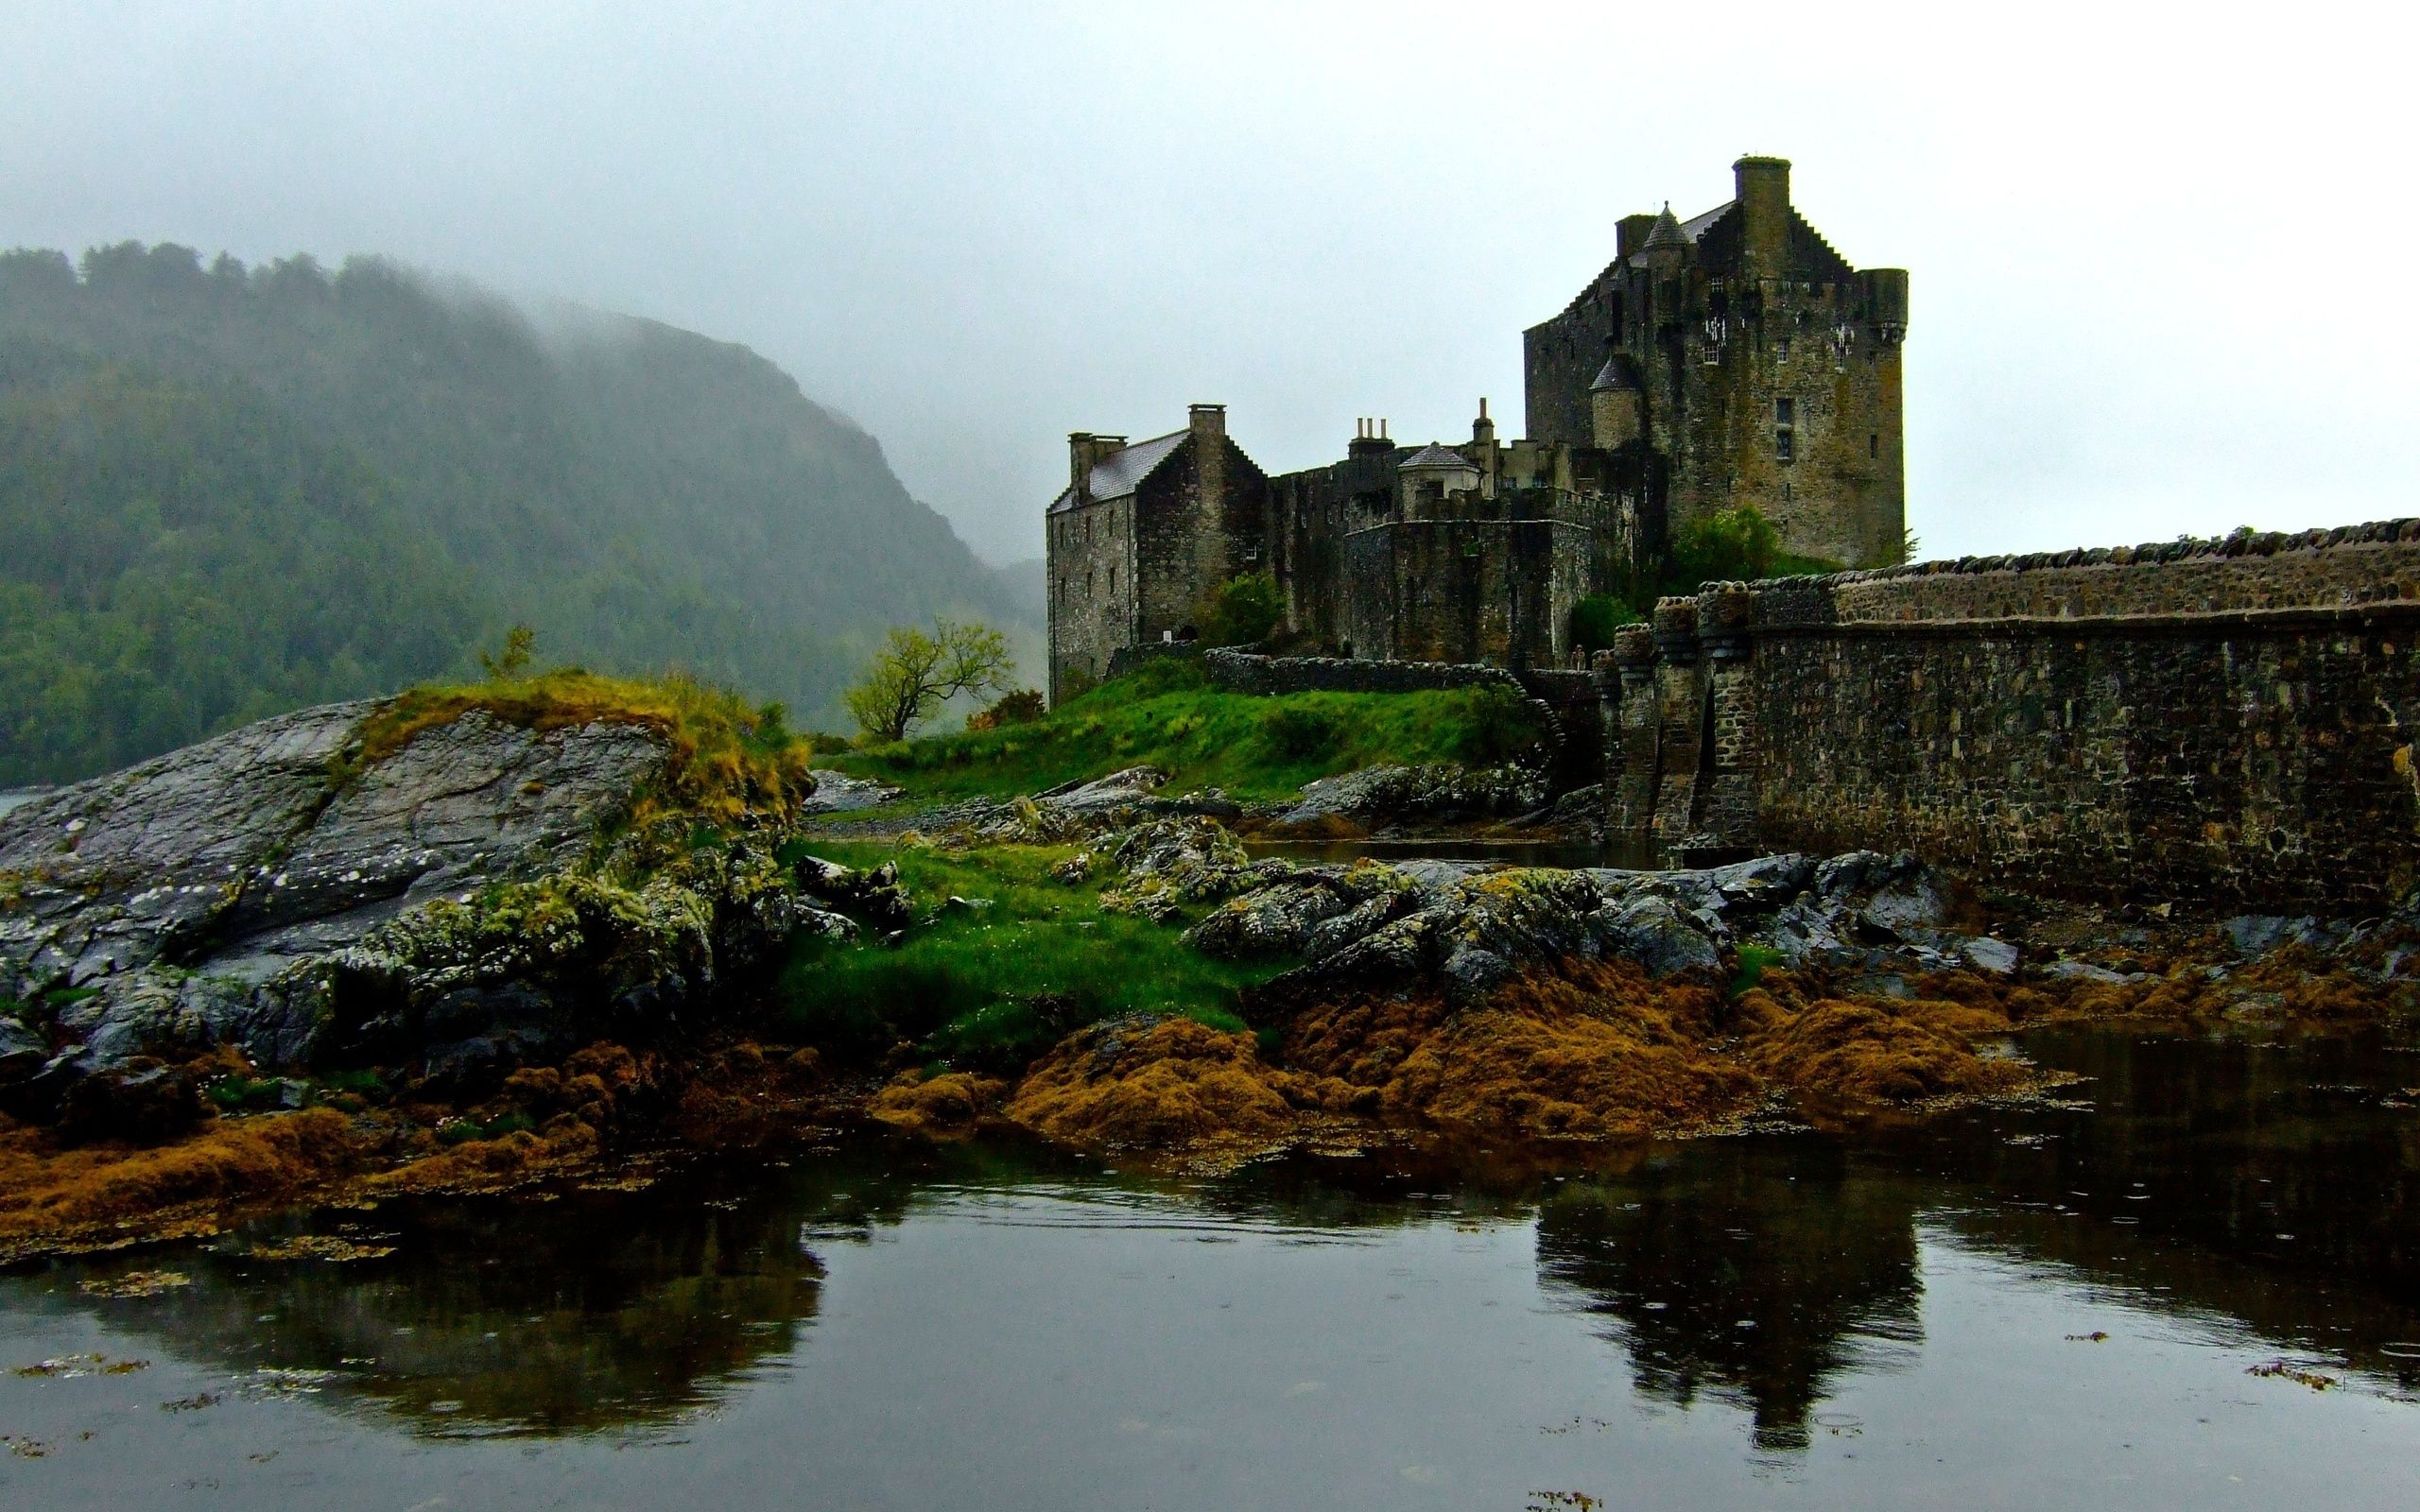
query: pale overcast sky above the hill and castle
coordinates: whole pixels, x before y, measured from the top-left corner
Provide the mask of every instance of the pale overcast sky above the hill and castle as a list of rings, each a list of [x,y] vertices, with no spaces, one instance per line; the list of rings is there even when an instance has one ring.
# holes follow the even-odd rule
[[[2171,19],[2173,17],[2173,19]],[[987,556],[1067,431],[1520,416],[1730,160],[1905,266],[1926,554],[2420,513],[2401,7],[0,5],[0,244],[380,252],[743,341]]]

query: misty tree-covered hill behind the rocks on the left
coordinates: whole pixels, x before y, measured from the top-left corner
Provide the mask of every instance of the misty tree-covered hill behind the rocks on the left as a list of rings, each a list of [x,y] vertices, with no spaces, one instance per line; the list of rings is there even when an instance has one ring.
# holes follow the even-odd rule
[[[378,259],[0,254],[0,786],[542,658],[825,719],[883,627],[1033,619],[745,346]]]

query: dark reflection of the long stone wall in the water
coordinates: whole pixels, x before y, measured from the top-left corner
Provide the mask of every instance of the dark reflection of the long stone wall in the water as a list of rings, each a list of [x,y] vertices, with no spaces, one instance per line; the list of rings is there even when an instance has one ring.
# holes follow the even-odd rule
[[[2033,1035],[2072,1106],[1970,1110],[1871,1159],[1965,1243],[2231,1318],[2420,1391],[2420,1055],[2408,1038]]]

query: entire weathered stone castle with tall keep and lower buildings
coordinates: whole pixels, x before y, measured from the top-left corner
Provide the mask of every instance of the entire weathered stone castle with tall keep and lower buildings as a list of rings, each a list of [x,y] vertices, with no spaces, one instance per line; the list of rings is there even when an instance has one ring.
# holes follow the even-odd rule
[[[1222,583],[1266,571],[1297,644],[1379,660],[1563,665],[1580,600],[1653,573],[1672,532],[1754,506],[1784,549],[1902,556],[1907,273],[1851,269],[1791,206],[1791,165],[1735,196],[1626,215],[1614,261],[1522,334],[1527,438],[1486,399],[1459,445],[1360,421],[1341,462],[1266,474],[1220,404],[1130,443],[1067,438],[1045,520],[1050,699],[1128,646],[1195,639]]]

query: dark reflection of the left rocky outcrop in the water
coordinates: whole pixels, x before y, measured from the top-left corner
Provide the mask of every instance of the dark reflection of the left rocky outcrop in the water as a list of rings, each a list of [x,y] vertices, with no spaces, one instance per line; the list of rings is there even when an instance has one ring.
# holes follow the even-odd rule
[[[392,1253],[264,1260],[295,1234]],[[109,1323],[230,1372],[300,1372],[421,1432],[561,1435],[675,1420],[791,1352],[823,1265],[779,1193],[571,1190],[411,1200],[264,1224],[201,1253],[60,1265]]]

